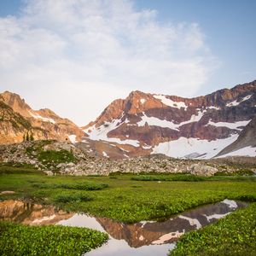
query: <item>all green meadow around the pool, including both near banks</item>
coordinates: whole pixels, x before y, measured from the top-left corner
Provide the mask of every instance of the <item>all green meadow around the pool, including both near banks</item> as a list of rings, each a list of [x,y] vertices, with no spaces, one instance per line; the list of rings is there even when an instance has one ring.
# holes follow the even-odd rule
[[[4,168],[9,171],[4,172]],[[11,171],[9,168],[14,169]],[[20,170],[26,170],[24,168],[20,167]],[[172,214],[225,198],[256,201],[256,177],[216,176],[199,180],[191,175],[155,173],[48,177],[29,168],[27,170],[31,172],[20,172],[18,169],[0,166],[3,171],[0,172],[0,191],[15,191],[14,195],[0,195],[0,200],[25,199],[126,223],[169,218]],[[253,203],[218,224],[188,233],[177,244],[173,255],[251,255],[253,250],[255,252],[255,210]],[[88,230],[63,228],[56,231],[48,227],[37,230],[36,227],[6,223],[0,226],[3,230],[0,235],[1,255],[80,255],[107,239],[105,235],[103,237]],[[63,234],[61,240],[59,233]],[[82,239],[82,236],[87,238]],[[98,239],[99,236],[101,238]],[[12,251],[14,248],[20,254],[15,254]]]

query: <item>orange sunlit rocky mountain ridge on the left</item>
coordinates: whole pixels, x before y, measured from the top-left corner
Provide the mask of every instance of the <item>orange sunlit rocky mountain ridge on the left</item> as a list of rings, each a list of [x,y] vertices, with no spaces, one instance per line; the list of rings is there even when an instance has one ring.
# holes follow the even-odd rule
[[[33,110],[19,95],[0,94],[0,144],[25,140],[55,139],[72,143],[86,137],[69,119],[62,119],[48,108]]]

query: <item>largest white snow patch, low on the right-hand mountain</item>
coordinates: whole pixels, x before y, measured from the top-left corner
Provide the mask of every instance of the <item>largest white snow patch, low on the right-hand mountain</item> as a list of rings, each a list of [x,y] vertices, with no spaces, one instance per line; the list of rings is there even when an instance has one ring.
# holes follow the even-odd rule
[[[151,154],[166,154],[172,157],[184,157],[189,154],[200,154],[197,159],[209,159],[218,154],[222,149],[234,143],[238,134],[233,134],[224,139],[214,141],[201,140],[195,137],[179,137],[175,141],[160,143],[153,148]]]

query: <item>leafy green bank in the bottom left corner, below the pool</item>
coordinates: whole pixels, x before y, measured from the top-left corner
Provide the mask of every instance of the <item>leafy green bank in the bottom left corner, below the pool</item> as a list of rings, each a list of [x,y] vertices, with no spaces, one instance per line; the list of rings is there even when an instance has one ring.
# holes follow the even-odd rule
[[[0,222],[0,254],[78,255],[102,245],[108,235],[101,232],[58,225],[26,226]]]

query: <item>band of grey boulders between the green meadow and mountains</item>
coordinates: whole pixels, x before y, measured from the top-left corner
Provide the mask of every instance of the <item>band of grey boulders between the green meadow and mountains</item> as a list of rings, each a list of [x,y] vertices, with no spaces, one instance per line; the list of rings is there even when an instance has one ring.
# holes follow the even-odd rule
[[[236,158],[235,158],[236,159]],[[242,158],[244,160],[244,158]],[[111,160],[108,157],[96,157],[87,154],[72,143],[57,141],[37,141],[15,143],[0,146],[0,163],[11,166],[31,166],[48,175],[67,174],[108,175],[113,172],[131,173],[191,173],[212,176],[216,172],[255,171],[256,160],[251,163],[218,160],[186,160],[167,157],[164,154],[151,154],[123,160]],[[248,160],[245,160],[248,162]]]

